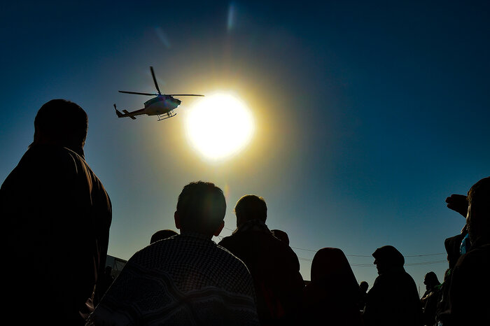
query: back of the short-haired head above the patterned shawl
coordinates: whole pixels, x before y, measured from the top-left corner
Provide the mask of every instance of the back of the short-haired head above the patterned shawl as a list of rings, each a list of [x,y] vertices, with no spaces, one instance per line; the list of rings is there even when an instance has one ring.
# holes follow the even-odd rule
[[[177,213],[183,231],[213,234],[225,218],[226,201],[223,190],[214,183],[189,183],[179,194]]]

